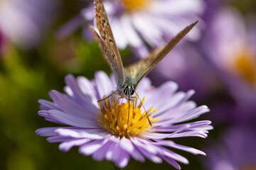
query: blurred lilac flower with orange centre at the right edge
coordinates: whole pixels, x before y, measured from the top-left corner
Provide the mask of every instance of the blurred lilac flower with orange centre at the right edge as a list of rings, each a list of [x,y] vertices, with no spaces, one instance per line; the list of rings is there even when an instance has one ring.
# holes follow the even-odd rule
[[[235,99],[238,119],[256,109],[256,16],[245,19],[235,8],[218,8],[210,21],[202,47]],[[248,28],[246,28],[246,26]]]

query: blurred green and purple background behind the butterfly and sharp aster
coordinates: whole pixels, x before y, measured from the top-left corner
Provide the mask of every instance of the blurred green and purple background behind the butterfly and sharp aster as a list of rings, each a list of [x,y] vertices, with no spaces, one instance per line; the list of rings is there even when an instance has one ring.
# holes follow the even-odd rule
[[[195,31],[149,74],[155,86],[172,80],[181,91],[195,89],[192,100],[211,110],[198,118],[212,121],[214,130],[208,138],[175,140],[207,154],[195,156],[177,150],[190,161],[181,167],[256,169],[256,1],[168,0],[174,6],[167,6],[170,9],[165,15],[155,12],[161,11],[158,6],[142,13],[137,10],[141,1],[135,5],[134,1],[105,1],[110,6],[106,7],[110,23],[120,21],[122,29],[113,24],[113,32],[124,65],[146,57],[199,20]],[[134,18],[122,17],[124,11],[111,8],[120,3]],[[58,143],[48,143],[35,134],[38,128],[56,126],[38,116],[38,99],[50,99],[51,89],[63,91],[66,74],[93,79],[98,70],[111,73],[87,30],[92,23],[92,5],[86,0],[0,0],[0,169],[114,169],[110,162],[82,156],[78,148],[60,152]],[[157,25],[159,34],[136,26],[146,13],[155,18],[144,26]],[[121,23],[132,23],[136,29],[125,30]],[[131,33],[127,40],[125,33]],[[166,162],[134,160],[125,169],[142,168],[174,169]]]

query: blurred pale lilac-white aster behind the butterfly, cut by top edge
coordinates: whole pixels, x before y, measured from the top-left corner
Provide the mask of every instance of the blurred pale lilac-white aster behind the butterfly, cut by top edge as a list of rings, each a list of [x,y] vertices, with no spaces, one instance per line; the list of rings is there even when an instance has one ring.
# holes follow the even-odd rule
[[[119,49],[129,45],[140,57],[148,51],[144,42],[156,48],[171,40],[179,31],[198,20],[203,12],[202,0],[105,0],[103,1],[114,39]],[[94,19],[93,3],[80,11],[60,32],[59,37],[68,35],[80,26],[82,21]],[[90,31],[85,28],[85,37]],[[194,28],[188,39],[198,40],[200,31]]]

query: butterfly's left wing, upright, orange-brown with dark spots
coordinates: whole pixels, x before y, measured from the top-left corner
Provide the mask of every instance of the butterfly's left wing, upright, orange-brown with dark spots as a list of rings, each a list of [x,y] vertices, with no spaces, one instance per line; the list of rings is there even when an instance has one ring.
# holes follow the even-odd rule
[[[95,0],[95,26],[100,32],[100,36],[102,38],[102,42],[105,46],[107,52],[105,52],[105,59],[110,64],[112,68],[112,72],[114,72],[114,76],[117,81],[117,88],[121,89],[124,84],[124,66],[122,64],[121,57],[119,55],[119,51],[117,49],[117,45],[114,41],[114,36],[112,34],[112,30],[110,28],[110,22],[107,18],[107,13],[102,4],[101,0]],[[103,52],[104,53],[104,52]]]

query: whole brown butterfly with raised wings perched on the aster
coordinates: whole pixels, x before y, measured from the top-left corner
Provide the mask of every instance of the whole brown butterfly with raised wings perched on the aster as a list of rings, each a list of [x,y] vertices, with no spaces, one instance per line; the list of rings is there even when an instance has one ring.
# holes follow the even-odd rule
[[[112,72],[114,73],[114,77],[117,82],[117,91],[114,91],[112,94],[117,93],[120,96],[119,98],[126,98],[128,101],[133,101],[134,103],[133,99],[137,97],[132,95],[134,95],[134,92],[137,89],[139,82],[146,76],[146,74],[148,74],[151,71],[151,69],[153,69],[156,66],[156,64],[158,64],[174,48],[174,46],[194,26],[196,26],[196,23],[198,23],[198,21],[186,27],[166,45],[163,45],[162,47],[159,47],[153,52],[151,52],[149,56],[145,59],[139,60],[138,62],[135,62],[134,64],[131,64],[128,67],[124,67],[122,64],[121,57],[119,55],[119,51],[117,49],[116,42],[114,41],[114,36],[102,1],[95,0],[94,4],[94,23],[100,35],[92,26],[89,27],[92,31],[94,39],[97,41],[100,49],[102,50],[103,57],[105,57],[105,60],[107,60],[107,63],[110,65]],[[110,94],[110,96],[112,94]],[[103,98],[102,100],[104,99],[105,98]]]

